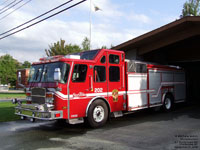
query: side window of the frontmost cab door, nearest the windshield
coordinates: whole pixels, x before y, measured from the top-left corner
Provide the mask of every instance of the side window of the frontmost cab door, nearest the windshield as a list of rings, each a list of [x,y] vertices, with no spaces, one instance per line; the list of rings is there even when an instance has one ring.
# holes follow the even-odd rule
[[[72,82],[84,82],[87,74],[87,65],[76,64],[72,75]]]

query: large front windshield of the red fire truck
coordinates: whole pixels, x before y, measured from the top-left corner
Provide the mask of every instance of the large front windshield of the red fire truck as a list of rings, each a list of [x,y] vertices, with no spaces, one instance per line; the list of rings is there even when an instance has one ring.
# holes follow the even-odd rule
[[[30,69],[29,82],[55,82],[54,71],[60,68],[60,83],[66,83],[69,74],[69,64],[66,63],[50,63],[42,65],[33,65]]]

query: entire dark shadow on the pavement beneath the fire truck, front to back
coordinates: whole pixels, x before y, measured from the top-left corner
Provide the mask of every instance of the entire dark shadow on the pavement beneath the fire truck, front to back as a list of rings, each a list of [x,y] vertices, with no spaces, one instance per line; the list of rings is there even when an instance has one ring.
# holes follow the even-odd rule
[[[200,103],[177,104],[175,108],[170,112],[164,112],[162,110],[154,111],[153,109],[145,109],[136,111],[132,114],[124,115],[119,118],[111,118],[107,124],[101,129],[118,128],[129,125],[137,125],[145,122],[159,122],[159,121],[176,121],[176,119],[187,116],[189,118],[200,119]],[[95,130],[90,128],[87,124],[70,125],[62,122],[53,122],[48,125],[41,125],[35,127],[36,130],[57,132],[58,134],[73,134],[81,135],[87,131]]]

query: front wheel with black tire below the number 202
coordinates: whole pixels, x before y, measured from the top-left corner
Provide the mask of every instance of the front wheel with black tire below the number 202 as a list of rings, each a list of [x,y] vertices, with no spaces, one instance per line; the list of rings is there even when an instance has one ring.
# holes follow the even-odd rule
[[[108,120],[108,107],[103,100],[95,100],[88,109],[87,122],[92,128],[105,125]]]

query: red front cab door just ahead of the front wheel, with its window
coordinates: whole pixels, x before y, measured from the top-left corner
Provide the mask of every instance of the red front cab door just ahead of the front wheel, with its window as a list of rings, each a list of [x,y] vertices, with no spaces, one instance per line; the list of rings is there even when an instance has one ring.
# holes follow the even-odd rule
[[[89,97],[90,70],[88,64],[76,62],[73,66],[71,82],[69,84],[69,119],[85,117],[85,110]]]

